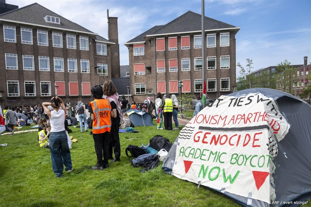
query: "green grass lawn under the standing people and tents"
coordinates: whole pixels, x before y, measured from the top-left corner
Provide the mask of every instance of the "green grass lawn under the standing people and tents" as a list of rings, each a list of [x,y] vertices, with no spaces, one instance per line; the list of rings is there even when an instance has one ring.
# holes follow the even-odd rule
[[[130,165],[125,155],[128,145],[148,144],[157,134],[174,142],[179,131],[159,131],[153,126],[135,127],[139,133],[120,133],[121,162],[93,171],[92,136],[70,128],[70,135],[78,139],[71,149],[74,171],[64,171],[61,179],[53,173],[49,149],[37,146],[37,132],[0,136],[0,143],[8,144],[0,147],[0,206],[239,206],[206,187],[195,193],[196,184],[164,173],[162,163],[146,173]]]

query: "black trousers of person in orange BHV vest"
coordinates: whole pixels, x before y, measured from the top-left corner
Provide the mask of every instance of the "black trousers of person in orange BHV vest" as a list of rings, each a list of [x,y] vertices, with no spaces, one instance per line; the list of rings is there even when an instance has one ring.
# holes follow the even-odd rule
[[[110,132],[93,134],[93,139],[94,139],[95,152],[97,156],[97,163],[100,166],[108,165]]]

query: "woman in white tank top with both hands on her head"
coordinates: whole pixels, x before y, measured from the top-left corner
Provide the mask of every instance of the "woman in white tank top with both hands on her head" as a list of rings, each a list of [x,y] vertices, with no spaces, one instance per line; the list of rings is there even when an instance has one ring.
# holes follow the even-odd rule
[[[66,107],[63,100],[57,96],[52,97],[51,102],[43,102],[42,106],[49,116],[49,123],[51,125],[49,143],[52,168],[56,177],[61,178],[64,170],[63,165],[65,165],[67,173],[73,171],[67,134],[65,131]],[[52,106],[54,110],[51,111],[48,106]]]

